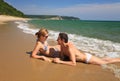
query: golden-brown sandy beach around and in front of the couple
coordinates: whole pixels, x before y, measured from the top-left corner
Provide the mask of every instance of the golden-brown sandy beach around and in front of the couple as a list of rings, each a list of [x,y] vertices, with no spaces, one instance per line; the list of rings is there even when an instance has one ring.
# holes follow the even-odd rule
[[[0,81],[119,81],[101,66],[77,63],[68,66],[30,57],[36,38],[23,33],[13,19],[0,21]],[[3,24],[5,23],[5,24]],[[50,42],[51,45],[54,42]]]

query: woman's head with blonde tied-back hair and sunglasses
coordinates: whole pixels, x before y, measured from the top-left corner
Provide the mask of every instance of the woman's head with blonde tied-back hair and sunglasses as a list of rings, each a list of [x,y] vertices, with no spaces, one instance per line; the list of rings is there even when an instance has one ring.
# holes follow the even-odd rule
[[[45,28],[41,28],[37,33],[35,33],[38,40],[45,41],[48,38],[48,30]]]

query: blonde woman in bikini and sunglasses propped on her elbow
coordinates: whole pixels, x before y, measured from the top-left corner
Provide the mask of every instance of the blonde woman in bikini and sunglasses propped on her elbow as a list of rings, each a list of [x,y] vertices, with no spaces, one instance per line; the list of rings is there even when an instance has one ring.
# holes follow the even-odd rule
[[[48,45],[46,41],[48,38],[47,29],[42,28],[35,35],[37,36],[37,41],[32,51],[33,58],[38,58],[44,61],[51,62],[51,60],[47,57],[58,57],[58,53],[60,51],[60,45],[56,45],[56,46]],[[38,53],[43,55],[39,55]]]

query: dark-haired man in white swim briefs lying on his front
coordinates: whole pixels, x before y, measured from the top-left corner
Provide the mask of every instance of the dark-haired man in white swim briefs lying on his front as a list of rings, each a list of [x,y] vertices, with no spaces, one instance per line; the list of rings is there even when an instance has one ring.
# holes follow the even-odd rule
[[[120,62],[120,58],[104,58],[100,59],[98,57],[92,56],[89,53],[84,53],[78,50],[71,42],[68,42],[68,35],[66,33],[59,33],[58,44],[61,48],[61,58],[63,59],[67,56],[70,61],[63,61],[60,58],[55,58],[53,62],[67,65],[76,65],[76,61],[85,62],[90,64],[102,65],[114,62]]]

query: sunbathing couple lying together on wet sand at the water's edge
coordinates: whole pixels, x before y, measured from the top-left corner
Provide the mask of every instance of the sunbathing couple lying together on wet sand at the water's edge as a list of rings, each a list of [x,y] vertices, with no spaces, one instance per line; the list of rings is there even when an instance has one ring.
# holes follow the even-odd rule
[[[68,35],[66,33],[59,33],[57,38],[58,45],[56,46],[49,46],[47,44],[47,29],[42,28],[35,35],[37,36],[37,42],[32,52],[33,58],[39,58],[44,61],[72,66],[76,65],[76,61],[96,65],[120,62],[120,58],[101,59],[89,53],[78,50],[71,42],[68,42]],[[43,55],[39,55],[39,53]],[[54,58],[51,61],[48,57]],[[66,58],[69,60],[66,61]]]

